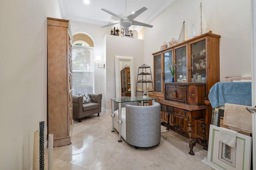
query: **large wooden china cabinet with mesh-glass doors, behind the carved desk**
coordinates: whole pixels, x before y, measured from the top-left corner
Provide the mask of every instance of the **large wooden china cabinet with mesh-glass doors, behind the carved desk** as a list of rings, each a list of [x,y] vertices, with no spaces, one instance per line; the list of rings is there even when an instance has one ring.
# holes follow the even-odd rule
[[[174,75],[175,83],[187,82],[204,84],[204,93],[197,94],[198,98],[204,97],[205,109],[205,125],[206,125],[206,139],[208,140],[209,128],[211,124],[212,107],[208,100],[208,94],[210,88],[220,81],[220,50],[219,50],[220,35],[213,34],[212,31],[203,35],[194,37],[187,41],[175,44],[167,49],[153,53],[154,57],[154,92],[148,94],[152,98],[157,98],[157,101],[161,103],[169,104],[170,106],[176,105],[172,101],[164,99],[165,88],[164,84],[172,84],[172,74],[168,68],[168,64],[177,64],[176,74]],[[179,81],[180,76],[182,80]],[[178,95],[178,94],[177,94]],[[180,109],[185,106],[179,106]],[[163,105],[161,104],[161,109]],[[187,119],[177,116],[175,114],[169,114],[168,111],[161,110],[161,121],[164,123],[170,123],[170,125],[178,125],[179,129],[176,132],[184,131],[184,134],[188,133],[186,126]],[[203,138],[202,133],[202,117],[192,119],[191,127],[192,138]],[[172,129],[174,130],[174,129]],[[188,137],[188,135],[184,135]],[[202,143],[201,143],[202,144]]]

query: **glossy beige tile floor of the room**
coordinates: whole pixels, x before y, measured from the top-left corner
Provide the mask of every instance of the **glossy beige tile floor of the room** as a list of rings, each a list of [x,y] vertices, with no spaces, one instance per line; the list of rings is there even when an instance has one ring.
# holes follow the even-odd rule
[[[188,139],[161,127],[161,141],[150,148],[134,149],[118,143],[119,135],[112,133],[110,114],[100,113],[74,119],[72,144],[53,149],[54,170],[211,170],[201,160],[207,151],[194,147],[195,155],[188,154]],[[48,169],[48,150],[45,151]]]

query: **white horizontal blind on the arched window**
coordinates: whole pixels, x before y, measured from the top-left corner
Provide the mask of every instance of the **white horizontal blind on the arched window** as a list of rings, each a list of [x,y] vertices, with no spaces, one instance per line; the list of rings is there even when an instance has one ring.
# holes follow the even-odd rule
[[[93,47],[72,46],[72,86],[74,93],[94,93]]]

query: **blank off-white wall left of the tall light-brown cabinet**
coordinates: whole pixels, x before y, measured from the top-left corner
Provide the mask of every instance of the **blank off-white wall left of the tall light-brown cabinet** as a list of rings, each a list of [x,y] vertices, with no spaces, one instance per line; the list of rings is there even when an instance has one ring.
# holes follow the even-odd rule
[[[1,0],[0,169],[32,168],[34,131],[47,134],[47,17],[58,0]]]

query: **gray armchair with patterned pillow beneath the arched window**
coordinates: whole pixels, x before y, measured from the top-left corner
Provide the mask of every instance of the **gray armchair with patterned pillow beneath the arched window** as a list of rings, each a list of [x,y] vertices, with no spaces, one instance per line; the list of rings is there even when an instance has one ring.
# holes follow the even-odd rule
[[[81,122],[82,117],[93,115],[101,112],[102,94],[88,94],[92,102],[83,104],[83,96],[73,95],[73,117],[78,118]]]

